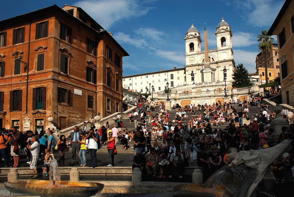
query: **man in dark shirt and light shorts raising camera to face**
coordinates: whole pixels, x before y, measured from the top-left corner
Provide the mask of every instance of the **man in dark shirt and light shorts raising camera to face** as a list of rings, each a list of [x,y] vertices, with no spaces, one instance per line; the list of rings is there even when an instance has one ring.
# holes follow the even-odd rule
[[[14,160],[13,166],[10,166],[10,167],[17,168],[18,164],[19,164],[19,156],[21,155],[20,143],[18,142],[19,138],[20,138],[20,132],[13,126],[13,127],[11,127],[11,130],[9,130],[8,137],[10,137],[9,143],[11,145],[10,154],[11,154],[11,156],[13,156],[13,160]],[[18,146],[17,151],[14,151],[14,143],[15,142]]]

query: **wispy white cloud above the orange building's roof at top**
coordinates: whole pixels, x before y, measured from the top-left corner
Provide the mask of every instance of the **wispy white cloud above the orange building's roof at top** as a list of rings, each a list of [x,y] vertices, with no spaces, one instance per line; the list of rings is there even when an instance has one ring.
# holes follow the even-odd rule
[[[137,0],[82,0],[74,5],[81,7],[103,28],[108,29],[119,20],[146,15],[151,7],[142,7]]]

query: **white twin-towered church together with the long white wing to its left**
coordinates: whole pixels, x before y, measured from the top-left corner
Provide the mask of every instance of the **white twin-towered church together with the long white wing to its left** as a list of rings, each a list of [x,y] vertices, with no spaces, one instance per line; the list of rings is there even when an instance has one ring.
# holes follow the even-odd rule
[[[223,18],[218,24],[215,34],[217,48],[208,50],[206,45],[208,58],[205,59],[205,50],[201,51],[202,38],[192,24],[184,38],[186,65],[183,68],[124,76],[123,88],[134,92],[142,92],[142,90],[146,92],[150,83],[154,87],[154,92],[161,92],[167,88],[166,83],[168,82],[172,92],[178,91],[179,88],[176,87],[193,84],[198,84],[197,90],[187,87],[191,91],[223,90],[223,81],[226,78],[227,89],[232,89],[232,74],[235,72],[231,39],[233,34],[230,26]],[[148,81],[148,84],[146,81]],[[183,90],[183,88],[180,89]]]

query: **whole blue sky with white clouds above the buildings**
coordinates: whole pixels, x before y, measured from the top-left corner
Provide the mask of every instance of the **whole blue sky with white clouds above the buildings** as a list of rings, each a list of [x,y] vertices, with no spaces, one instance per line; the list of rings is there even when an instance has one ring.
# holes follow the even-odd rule
[[[182,68],[185,65],[185,33],[194,26],[201,34],[204,25],[208,48],[216,48],[214,32],[222,16],[231,26],[235,63],[255,72],[257,34],[269,29],[285,0],[81,0],[4,1],[0,20],[53,4],[81,7],[129,53],[123,58],[123,76]],[[275,37],[275,43],[276,37]]]

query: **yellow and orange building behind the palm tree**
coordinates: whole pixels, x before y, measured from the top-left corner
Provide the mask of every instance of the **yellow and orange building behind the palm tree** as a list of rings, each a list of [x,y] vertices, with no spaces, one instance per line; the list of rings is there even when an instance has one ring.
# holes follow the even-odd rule
[[[268,82],[273,82],[273,80],[280,75],[278,44],[273,44],[273,52],[268,55],[267,61]],[[265,57],[262,52],[258,53],[256,56],[255,63],[258,75],[260,76],[261,74],[260,80],[265,83]]]

